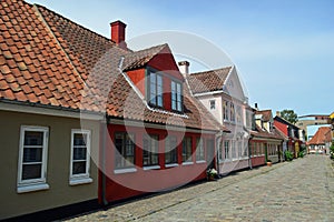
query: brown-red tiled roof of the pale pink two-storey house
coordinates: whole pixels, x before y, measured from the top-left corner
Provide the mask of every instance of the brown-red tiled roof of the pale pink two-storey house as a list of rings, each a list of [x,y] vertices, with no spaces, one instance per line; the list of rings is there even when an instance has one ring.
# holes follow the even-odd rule
[[[188,84],[194,94],[202,92],[213,92],[223,90],[226,78],[230,72],[232,67],[222,69],[197,72],[187,75]]]

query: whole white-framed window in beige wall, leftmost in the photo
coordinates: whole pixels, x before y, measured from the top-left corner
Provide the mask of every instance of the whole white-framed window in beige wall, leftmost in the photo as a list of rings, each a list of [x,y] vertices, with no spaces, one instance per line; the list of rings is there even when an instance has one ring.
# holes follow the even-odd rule
[[[21,127],[18,193],[46,190],[49,128]]]

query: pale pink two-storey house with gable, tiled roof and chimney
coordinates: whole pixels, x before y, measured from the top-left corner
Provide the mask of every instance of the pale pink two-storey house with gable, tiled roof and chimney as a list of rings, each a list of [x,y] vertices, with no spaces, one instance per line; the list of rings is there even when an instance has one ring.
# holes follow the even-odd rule
[[[180,67],[188,65],[180,62]],[[188,68],[181,70],[188,70]],[[230,132],[218,144],[218,171],[226,174],[249,167],[248,139],[252,110],[235,67],[184,73],[194,97]]]

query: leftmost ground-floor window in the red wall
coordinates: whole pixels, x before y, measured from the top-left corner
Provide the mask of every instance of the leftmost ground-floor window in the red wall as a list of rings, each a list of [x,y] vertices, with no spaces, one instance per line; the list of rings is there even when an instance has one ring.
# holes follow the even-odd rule
[[[115,133],[116,160],[115,169],[135,167],[135,134],[127,132]]]

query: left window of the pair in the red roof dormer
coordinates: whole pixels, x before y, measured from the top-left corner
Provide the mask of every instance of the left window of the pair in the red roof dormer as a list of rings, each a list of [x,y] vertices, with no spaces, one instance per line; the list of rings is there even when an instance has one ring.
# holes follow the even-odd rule
[[[163,75],[148,70],[148,101],[154,107],[163,108]]]

